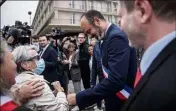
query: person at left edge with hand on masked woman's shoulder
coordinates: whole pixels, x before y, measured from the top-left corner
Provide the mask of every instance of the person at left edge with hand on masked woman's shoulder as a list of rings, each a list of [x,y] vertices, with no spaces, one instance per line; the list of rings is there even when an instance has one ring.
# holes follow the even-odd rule
[[[25,102],[25,99],[31,97],[40,96],[41,93],[38,93],[38,91],[40,92],[43,89],[43,83],[29,81],[18,88],[18,93],[10,91],[11,86],[15,84],[16,64],[11,52],[8,50],[7,43],[2,37],[0,37],[0,64],[0,111],[31,111],[17,104],[14,101],[14,96],[20,102]]]

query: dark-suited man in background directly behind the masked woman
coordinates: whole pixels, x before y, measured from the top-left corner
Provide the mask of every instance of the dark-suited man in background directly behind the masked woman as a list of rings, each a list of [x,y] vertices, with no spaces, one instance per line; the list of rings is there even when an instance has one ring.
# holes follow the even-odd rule
[[[56,50],[52,46],[49,46],[49,40],[46,36],[39,37],[39,45],[40,45],[39,55],[45,61],[45,70],[42,72],[41,75],[43,75],[44,78],[50,83],[58,81],[59,78],[57,75]],[[53,89],[51,84],[49,84],[49,86],[51,89]]]

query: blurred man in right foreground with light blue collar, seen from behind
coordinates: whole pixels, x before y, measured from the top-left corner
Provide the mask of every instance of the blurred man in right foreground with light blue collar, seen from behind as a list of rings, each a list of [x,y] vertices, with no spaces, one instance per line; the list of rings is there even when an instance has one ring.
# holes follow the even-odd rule
[[[121,26],[144,48],[136,87],[122,111],[176,111],[176,1],[120,1]]]

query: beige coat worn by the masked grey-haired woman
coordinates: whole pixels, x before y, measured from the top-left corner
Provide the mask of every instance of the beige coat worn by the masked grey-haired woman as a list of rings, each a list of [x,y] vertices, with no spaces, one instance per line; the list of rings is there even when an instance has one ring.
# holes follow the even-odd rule
[[[23,72],[16,76],[16,84],[13,86],[14,88],[20,87],[23,83],[29,80],[41,80],[45,82],[43,94],[40,97],[36,97],[33,99],[29,99],[25,106],[32,110],[41,110],[41,111],[68,111],[69,106],[66,99],[66,95],[63,92],[58,92],[55,96],[51,89],[49,88],[46,80],[44,80],[43,76],[34,75],[29,71]],[[12,87],[12,91],[14,88]]]

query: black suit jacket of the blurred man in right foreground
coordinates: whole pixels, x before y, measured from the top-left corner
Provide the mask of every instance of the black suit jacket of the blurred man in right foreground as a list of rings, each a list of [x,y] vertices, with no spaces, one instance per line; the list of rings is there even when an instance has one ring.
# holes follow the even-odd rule
[[[176,39],[152,62],[122,111],[176,111]]]

